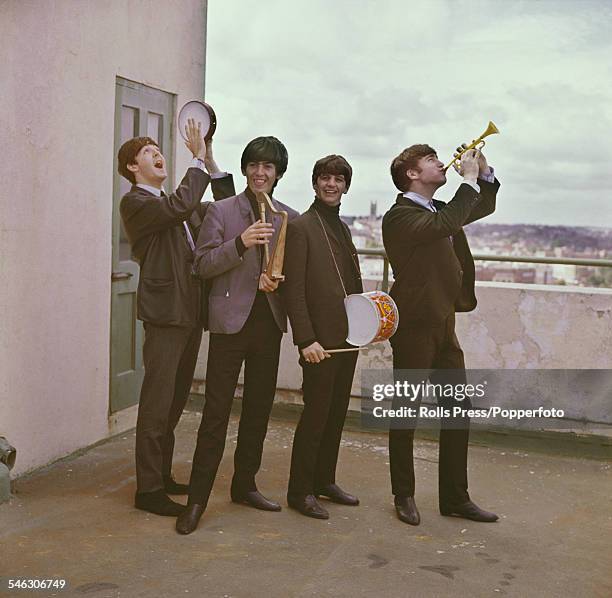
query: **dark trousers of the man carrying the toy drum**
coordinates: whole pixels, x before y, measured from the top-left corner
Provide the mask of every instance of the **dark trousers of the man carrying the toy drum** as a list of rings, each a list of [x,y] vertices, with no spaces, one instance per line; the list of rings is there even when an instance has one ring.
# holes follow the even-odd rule
[[[320,363],[300,359],[300,364],[304,371],[304,410],[293,439],[290,495],[314,494],[336,481],[357,352],[336,353]]]

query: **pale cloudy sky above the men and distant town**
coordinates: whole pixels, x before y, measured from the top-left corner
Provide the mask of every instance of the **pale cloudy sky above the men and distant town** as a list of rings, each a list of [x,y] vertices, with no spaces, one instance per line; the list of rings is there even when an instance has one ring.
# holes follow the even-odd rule
[[[240,188],[244,146],[278,137],[275,197],[304,211],[314,162],[342,154],[342,213],[384,213],[400,151],[428,143],[447,163],[492,120],[487,221],[612,228],[611,31],[612,0],[210,0],[215,156]],[[459,182],[449,170],[436,197]]]

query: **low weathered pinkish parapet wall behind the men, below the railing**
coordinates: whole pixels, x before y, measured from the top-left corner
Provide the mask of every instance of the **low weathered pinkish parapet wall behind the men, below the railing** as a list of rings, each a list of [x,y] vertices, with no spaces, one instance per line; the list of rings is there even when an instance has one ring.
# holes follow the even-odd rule
[[[470,369],[612,370],[612,290],[561,286],[477,283],[478,307],[457,315],[457,336]],[[206,376],[205,338],[196,378]],[[361,351],[353,395],[361,395],[361,371],[392,367],[391,346],[377,343]],[[291,336],[283,337],[279,388],[299,391],[301,368]],[[197,388],[201,389],[201,385]],[[299,402],[299,396],[279,397]],[[513,407],[538,406],[536,393],[518,397]],[[508,405],[504,405],[507,407]],[[592,405],[556,404],[566,413],[593,422],[612,420],[612,388]],[[351,408],[359,410],[359,401]],[[588,431],[588,430],[583,430]]]

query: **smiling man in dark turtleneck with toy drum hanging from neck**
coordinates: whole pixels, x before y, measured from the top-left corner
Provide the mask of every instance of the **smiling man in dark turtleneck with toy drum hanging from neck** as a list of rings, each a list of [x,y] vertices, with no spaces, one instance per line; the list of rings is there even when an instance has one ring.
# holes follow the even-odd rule
[[[349,346],[344,298],[363,290],[357,251],[340,220],[340,200],[352,172],[342,156],[318,160],[312,171],[314,203],[290,223],[287,234],[283,296],[304,373],[304,410],[293,440],[287,502],[315,519],[329,518],[318,496],[359,504],[336,484],[358,352],[326,352]]]

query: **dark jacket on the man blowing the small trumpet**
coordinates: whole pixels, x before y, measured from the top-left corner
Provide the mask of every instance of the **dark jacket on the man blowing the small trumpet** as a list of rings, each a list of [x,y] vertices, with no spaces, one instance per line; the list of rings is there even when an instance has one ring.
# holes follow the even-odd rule
[[[384,215],[383,243],[393,268],[391,296],[400,326],[439,324],[454,311],[472,311],[475,268],[463,226],[495,211],[499,181],[478,180],[480,193],[463,183],[437,212],[399,194]]]

